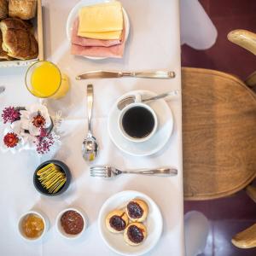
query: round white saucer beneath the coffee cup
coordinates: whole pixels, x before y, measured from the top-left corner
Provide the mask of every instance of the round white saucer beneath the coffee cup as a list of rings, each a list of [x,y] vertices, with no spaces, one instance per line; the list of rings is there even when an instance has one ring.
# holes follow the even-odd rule
[[[140,93],[144,98],[150,96],[156,96],[157,94],[149,90],[133,90],[120,96],[119,99],[113,104],[110,113],[108,114],[108,134],[113,143],[122,151],[127,154],[135,156],[145,156],[155,154],[163,148],[172,135],[173,117],[172,111],[165,100],[150,102],[148,105],[154,109],[158,119],[158,128],[154,136],[148,141],[143,143],[133,143],[123,137],[119,131],[118,119],[119,109],[117,108],[117,102],[126,96],[131,96],[135,92]]]

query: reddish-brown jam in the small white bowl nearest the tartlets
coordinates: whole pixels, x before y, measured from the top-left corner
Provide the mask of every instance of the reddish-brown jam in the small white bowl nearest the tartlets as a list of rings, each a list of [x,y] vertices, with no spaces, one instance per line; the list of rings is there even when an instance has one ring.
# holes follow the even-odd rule
[[[84,220],[79,212],[67,211],[61,216],[61,226],[67,234],[78,235],[84,228]]]

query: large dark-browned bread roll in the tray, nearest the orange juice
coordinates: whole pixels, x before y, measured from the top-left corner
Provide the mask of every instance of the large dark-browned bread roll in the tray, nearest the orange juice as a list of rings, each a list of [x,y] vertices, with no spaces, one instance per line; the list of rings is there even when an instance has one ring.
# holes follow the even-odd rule
[[[15,59],[30,60],[38,56],[38,42],[32,34],[32,25],[24,20],[8,18],[0,22],[3,50]]]

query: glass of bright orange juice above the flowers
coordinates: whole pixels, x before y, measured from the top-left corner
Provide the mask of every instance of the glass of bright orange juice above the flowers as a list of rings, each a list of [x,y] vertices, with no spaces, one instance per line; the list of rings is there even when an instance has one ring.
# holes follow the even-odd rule
[[[50,61],[37,61],[26,71],[26,88],[39,98],[59,99],[67,94],[67,75]]]

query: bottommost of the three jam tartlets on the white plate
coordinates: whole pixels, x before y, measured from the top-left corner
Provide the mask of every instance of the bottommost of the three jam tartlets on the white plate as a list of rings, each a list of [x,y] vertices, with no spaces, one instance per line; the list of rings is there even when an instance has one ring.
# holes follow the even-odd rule
[[[127,226],[124,233],[125,242],[131,246],[138,246],[147,237],[147,228],[138,222],[131,223]]]

